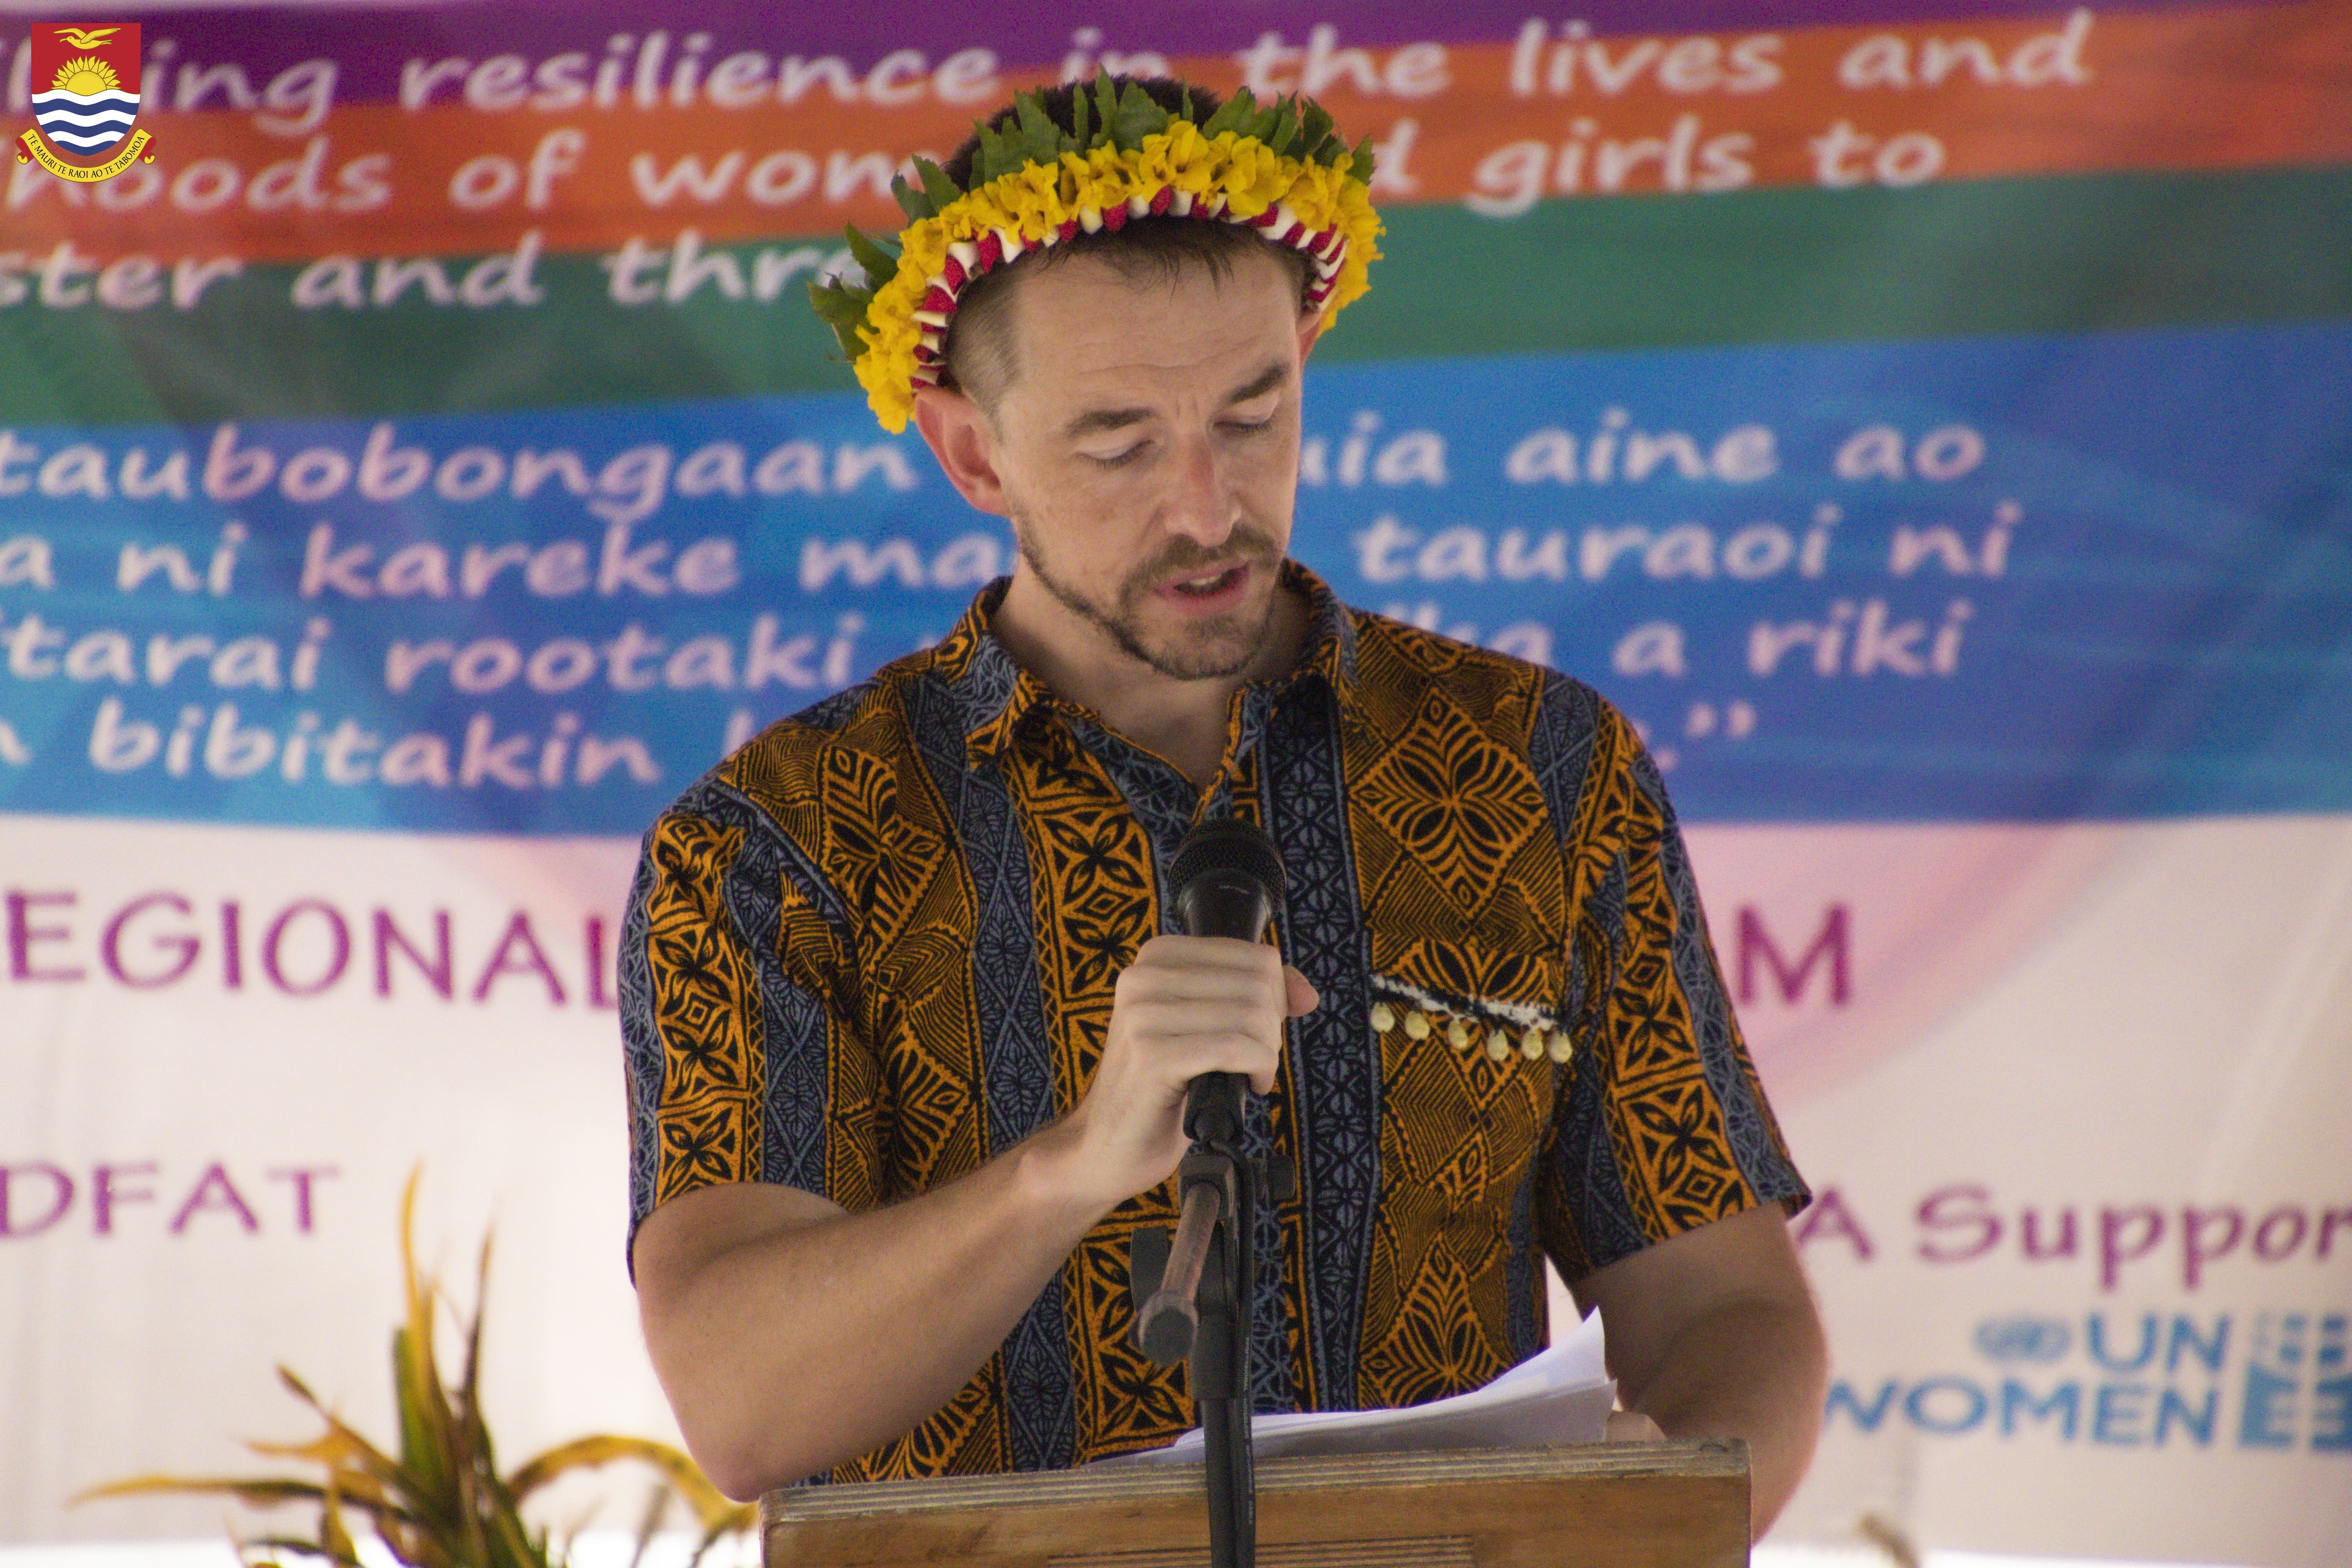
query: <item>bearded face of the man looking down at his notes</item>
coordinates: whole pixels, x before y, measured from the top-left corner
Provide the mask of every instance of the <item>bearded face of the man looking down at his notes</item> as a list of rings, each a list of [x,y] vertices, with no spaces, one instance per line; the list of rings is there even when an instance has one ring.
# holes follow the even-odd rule
[[[1298,289],[1244,252],[1174,280],[1080,256],[1018,280],[993,465],[1021,569],[1169,679],[1265,642],[1298,489]],[[1018,588],[1018,581],[1016,581]]]

